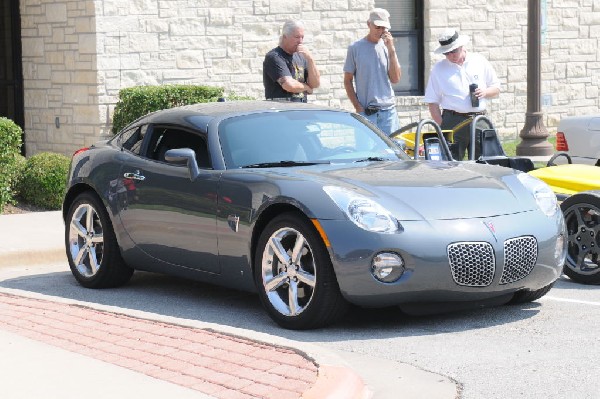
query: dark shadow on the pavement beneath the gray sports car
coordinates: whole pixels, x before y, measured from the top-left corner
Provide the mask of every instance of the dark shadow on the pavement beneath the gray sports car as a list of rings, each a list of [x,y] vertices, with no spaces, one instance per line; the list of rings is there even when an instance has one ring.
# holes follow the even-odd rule
[[[568,280],[559,280],[558,284],[572,288]],[[6,279],[0,281],[0,287],[160,316],[216,323],[303,342],[437,335],[489,328],[531,318],[543,307],[542,304],[533,302],[427,316],[409,316],[397,308],[353,308],[344,320],[328,328],[288,331],[271,321],[258,296],[253,293],[154,273],[136,272],[129,284],[114,289],[83,288],[69,271]],[[553,290],[555,289],[557,288]]]

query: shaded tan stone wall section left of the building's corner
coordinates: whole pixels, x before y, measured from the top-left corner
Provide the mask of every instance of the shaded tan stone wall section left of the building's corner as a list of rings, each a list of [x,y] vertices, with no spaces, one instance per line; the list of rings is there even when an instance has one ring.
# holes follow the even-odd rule
[[[71,154],[92,143],[100,115],[92,1],[21,0],[26,153]]]

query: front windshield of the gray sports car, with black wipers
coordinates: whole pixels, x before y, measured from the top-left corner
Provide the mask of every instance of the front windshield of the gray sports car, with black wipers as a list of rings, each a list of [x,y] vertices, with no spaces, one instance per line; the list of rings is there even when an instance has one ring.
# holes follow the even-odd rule
[[[394,141],[346,112],[237,116],[220,123],[219,139],[228,168],[408,159]]]

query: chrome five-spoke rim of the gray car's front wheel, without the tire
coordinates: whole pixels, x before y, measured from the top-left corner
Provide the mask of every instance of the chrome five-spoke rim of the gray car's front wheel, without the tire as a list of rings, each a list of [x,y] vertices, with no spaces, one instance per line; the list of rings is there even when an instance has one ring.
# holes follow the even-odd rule
[[[309,306],[316,285],[315,259],[299,231],[289,227],[275,231],[261,267],[267,298],[280,314],[296,316]]]

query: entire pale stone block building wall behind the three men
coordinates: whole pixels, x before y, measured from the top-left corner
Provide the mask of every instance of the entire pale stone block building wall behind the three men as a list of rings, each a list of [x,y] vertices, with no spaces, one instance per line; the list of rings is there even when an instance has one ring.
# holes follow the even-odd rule
[[[446,26],[472,38],[503,84],[491,102],[501,134],[516,138],[527,108],[527,2],[429,0],[426,69]],[[26,151],[73,150],[110,136],[125,87],[203,84],[263,98],[262,60],[287,18],[302,19],[321,71],[311,101],[351,109],[346,48],[367,32],[372,0],[21,0]],[[547,0],[542,45],[545,123],[598,112],[600,3]],[[422,97],[398,97],[401,124],[429,117]]]

